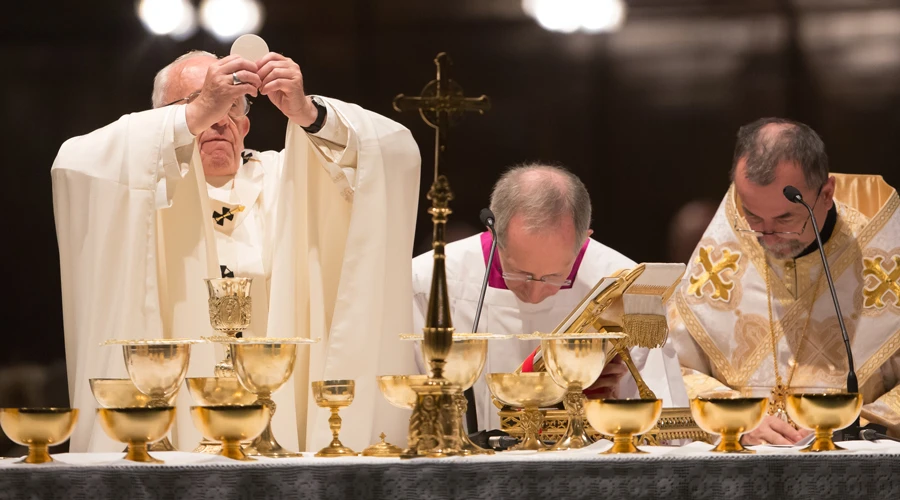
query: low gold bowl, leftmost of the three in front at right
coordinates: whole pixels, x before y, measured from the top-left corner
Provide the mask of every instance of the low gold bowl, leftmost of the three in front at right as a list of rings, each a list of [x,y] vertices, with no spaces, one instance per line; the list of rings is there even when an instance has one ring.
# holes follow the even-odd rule
[[[612,448],[602,454],[647,453],[634,445],[634,436],[656,425],[662,413],[661,399],[593,399],[584,404],[591,426],[613,437]]]

